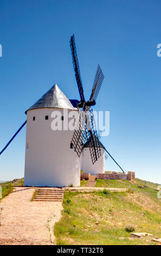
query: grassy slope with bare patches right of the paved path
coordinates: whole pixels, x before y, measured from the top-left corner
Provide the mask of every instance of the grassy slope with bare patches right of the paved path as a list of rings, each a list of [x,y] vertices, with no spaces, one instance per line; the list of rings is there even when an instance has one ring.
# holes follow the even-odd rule
[[[154,245],[151,237],[130,237],[125,228],[161,237],[161,199],[157,184],[135,179],[96,180],[96,187],[124,187],[127,192],[65,191],[57,245]]]

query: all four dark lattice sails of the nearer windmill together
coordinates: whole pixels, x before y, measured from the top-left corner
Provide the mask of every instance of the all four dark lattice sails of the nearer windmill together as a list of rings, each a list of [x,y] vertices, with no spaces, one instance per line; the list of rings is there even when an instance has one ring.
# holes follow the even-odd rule
[[[80,103],[78,104],[80,114],[78,124],[76,126],[76,129],[74,130],[71,143],[73,144],[74,150],[80,157],[83,150],[83,146],[85,145],[86,141],[88,141],[92,163],[94,164],[95,161],[97,161],[100,157],[101,150],[99,147],[99,138],[95,127],[93,111],[92,109],[90,110],[90,107],[95,105],[96,98],[98,97],[102,82],[104,80],[104,74],[100,68],[100,65],[98,65],[93,82],[92,93],[89,97],[89,100],[86,101],[83,93],[83,86],[80,75],[78,56],[76,53],[74,34],[70,38],[70,48],[72,52],[75,78],[80,94]]]

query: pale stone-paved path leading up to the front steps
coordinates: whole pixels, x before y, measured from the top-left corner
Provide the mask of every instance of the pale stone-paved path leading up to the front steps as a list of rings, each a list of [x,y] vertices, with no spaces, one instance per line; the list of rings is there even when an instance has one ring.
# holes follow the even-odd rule
[[[52,245],[61,202],[30,202],[35,188],[16,187],[0,203],[0,245]]]

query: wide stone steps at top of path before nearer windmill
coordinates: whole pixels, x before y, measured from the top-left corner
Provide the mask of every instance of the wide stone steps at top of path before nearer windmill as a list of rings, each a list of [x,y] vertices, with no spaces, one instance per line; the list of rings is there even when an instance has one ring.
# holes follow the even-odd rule
[[[62,202],[62,188],[38,188],[34,201]]]

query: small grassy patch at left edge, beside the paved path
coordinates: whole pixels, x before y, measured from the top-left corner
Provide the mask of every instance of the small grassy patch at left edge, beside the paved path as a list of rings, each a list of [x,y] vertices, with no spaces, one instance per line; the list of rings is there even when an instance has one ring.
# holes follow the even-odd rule
[[[23,186],[23,182],[24,179],[22,178],[0,183],[0,186],[2,187],[2,198],[0,198],[0,201],[13,191],[13,186]]]

